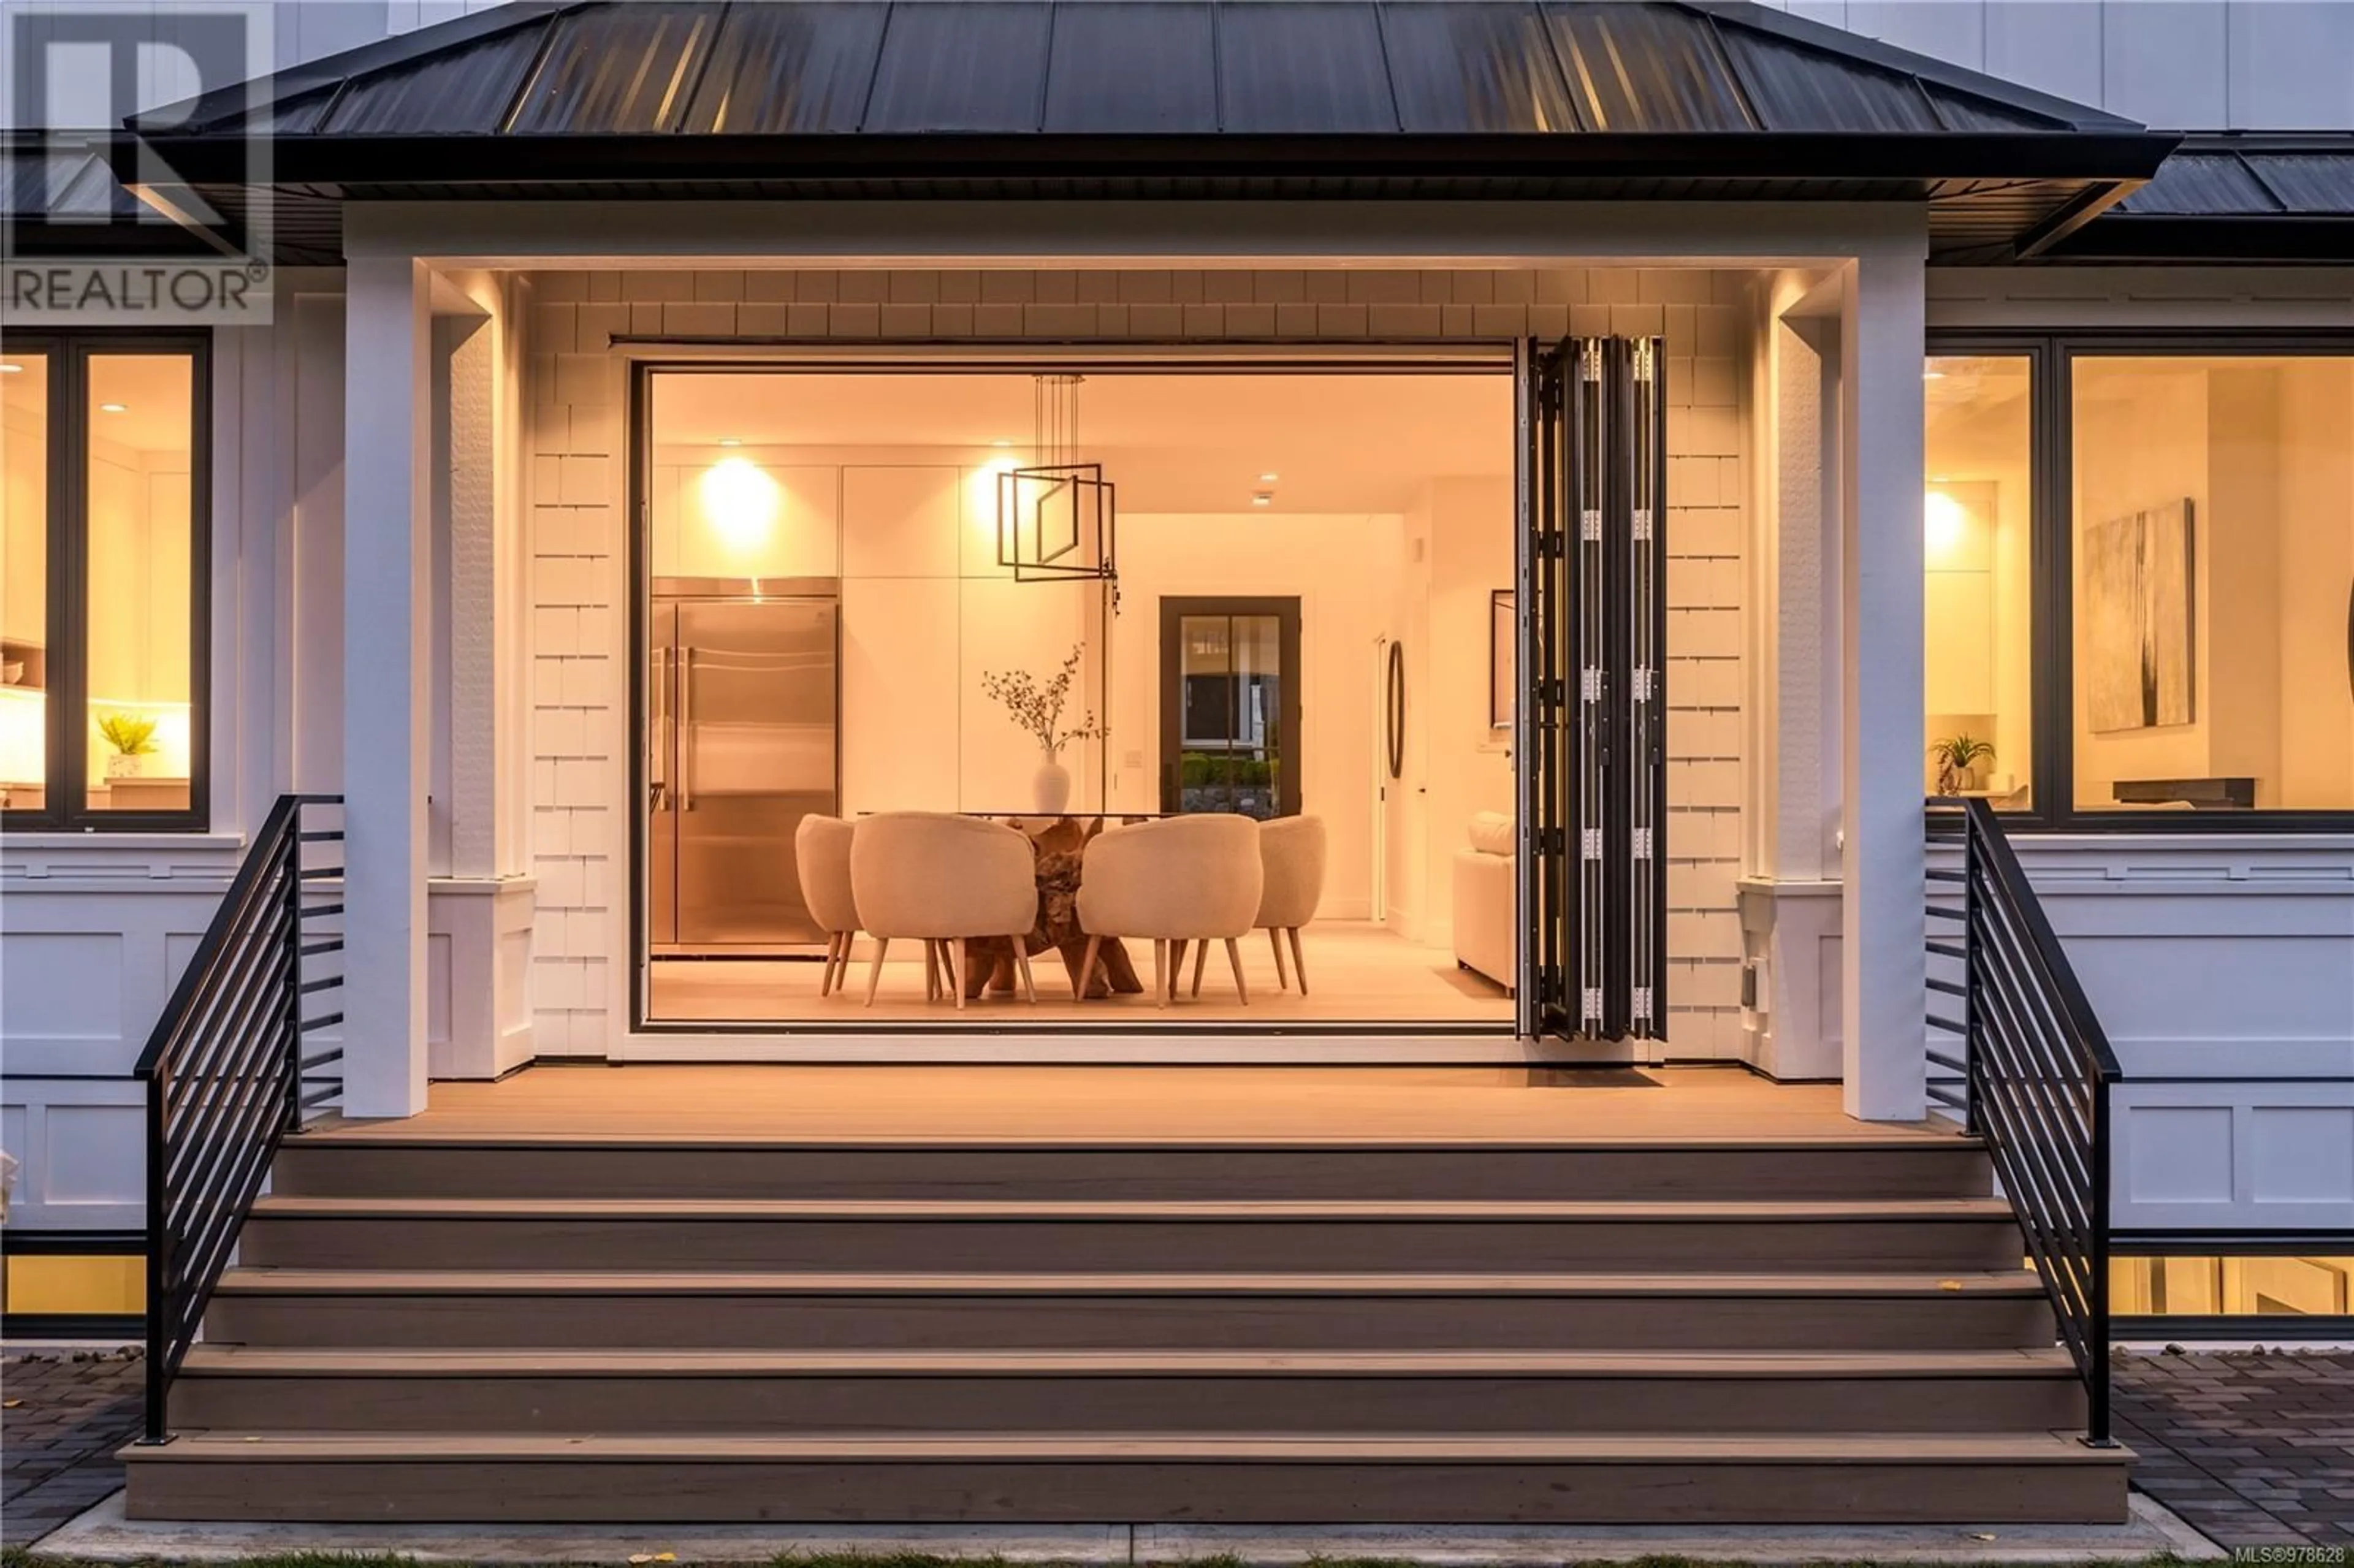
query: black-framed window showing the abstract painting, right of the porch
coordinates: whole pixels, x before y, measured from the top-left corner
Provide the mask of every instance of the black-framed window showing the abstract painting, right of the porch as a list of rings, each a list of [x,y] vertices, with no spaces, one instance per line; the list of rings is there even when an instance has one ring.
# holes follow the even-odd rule
[[[1933,332],[1923,374],[1930,793],[2354,826],[2354,337]]]

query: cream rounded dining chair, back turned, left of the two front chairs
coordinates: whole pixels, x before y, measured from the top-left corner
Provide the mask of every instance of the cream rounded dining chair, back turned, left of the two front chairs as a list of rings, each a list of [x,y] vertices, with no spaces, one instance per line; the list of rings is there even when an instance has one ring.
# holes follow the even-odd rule
[[[937,961],[949,970],[958,1008],[965,1005],[967,939],[1012,937],[1022,991],[1038,1001],[1024,942],[1038,925],[1038,859],[1017,829],[944,812],[862,817],[850,838],[850,890],[859,904],[859,925],[876,939],[876,963],[866,977],[869,1008],[883,984],[883,954],[892,937],[923,942],[925,1001],[937,996]]]

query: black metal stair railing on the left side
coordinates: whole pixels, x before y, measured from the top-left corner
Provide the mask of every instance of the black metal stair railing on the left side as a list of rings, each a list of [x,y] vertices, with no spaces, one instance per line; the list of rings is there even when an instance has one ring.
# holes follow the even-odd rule
[[[238,1245],[271,1154],[344,1092],[341,796],[280,796],[148,1036],[146,1429]],[[308,1052],[308,1055],[306,1055]]]

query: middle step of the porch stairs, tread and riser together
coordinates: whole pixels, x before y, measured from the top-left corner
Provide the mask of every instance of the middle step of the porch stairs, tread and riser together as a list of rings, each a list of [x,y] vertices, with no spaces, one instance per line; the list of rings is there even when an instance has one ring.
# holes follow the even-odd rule
[[[643,1260],[640,1260],[643,1262]],[[2024,1269],[1963,1274],[767,1274],[231,1269],[217,1340],[645,1349],[1994,1349]]]

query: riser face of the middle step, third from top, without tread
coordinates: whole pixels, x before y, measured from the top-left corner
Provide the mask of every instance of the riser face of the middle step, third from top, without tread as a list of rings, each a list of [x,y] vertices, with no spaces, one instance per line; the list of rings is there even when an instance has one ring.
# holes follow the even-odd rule
[[[219,1295],[210,1337],[483,1349],[1999,1349],[2041,1300]]]

